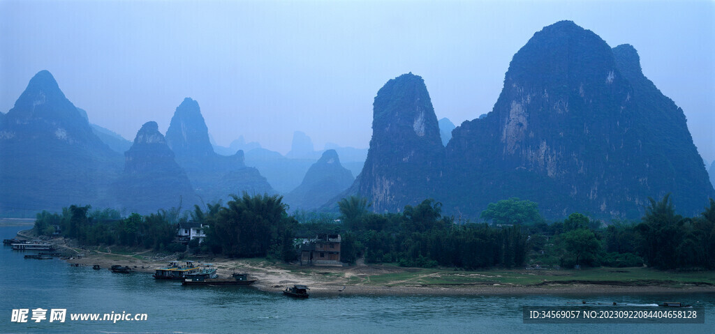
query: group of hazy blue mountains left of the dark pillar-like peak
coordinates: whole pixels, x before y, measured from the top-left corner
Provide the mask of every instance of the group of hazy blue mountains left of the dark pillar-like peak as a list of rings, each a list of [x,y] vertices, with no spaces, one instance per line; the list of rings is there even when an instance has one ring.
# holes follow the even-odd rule
[[[134,142],[127,141],[89,123],[87,112],[65,98],[48,71],[41,71],[15,107],[0,113],[0,186],[4,190],[0,214],[34,216],[36,211],[59,211],[71,204],[151,213],[225,201],[230,194],[242,192],[275,193],[255,167],[246,166],[242,148],[250,148],[251,163],[265,167],[272,181],[284,186],[283,193],[297,188],[304,178],[307,183],[298,193],[315,192],[315,185],[327,186],[317,198],[335,196],[347,188],[332,190],[332,176],[319,181],[323,176],[315,173],[330,170],[319,168],[320,164],[312,168],[318,172],[306,176],[323,151],[312,151],[310,138],[300,134],[296,134],[296,150],[291,153],[295,158],[260,148],[258,143],[245,143],[242,137],[232,143],[236,151],[223,156],[215,153],[199,104],[185,98],[174,112],[166,136],[150,121],[137,132]],[[301,151],[301,144],[307,149]],[[360,159],[361,150],[337,149]],[[329,152],[327,156],[340,166],[336,151]],[[352,168],[362,164],[350,162]],[[348,183],[352,182],[350,171],[344,172],[350,178]],[[345,173],[337,179],[345,183]],[[340,187],[342,183],[336,184]],[[301,200],[295,208],[307,203],[317,206],[314,202],[322,201]]]

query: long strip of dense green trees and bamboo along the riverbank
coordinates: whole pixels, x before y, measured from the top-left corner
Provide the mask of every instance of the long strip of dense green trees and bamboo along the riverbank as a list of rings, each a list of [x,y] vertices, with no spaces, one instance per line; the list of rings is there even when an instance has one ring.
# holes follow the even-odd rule
[[[644,264],[661,269],[715,268],[714,200],[694,218],[677,215],[670,196],[665,196],[661,201],[651,198],[639,223],[604,223],[581,213],[546,223],[536,203],[511,198],[484,211],[482,216],[490,218],[490,224],[455,223],[453,217],[442,215],[441,203],[432,199],[405,206],[401,213],[378,214],[368,210],[365,198],[351,196],[338,203],[340,217],[335,217],[305,211],[288,216],[282,197],[275,195],[231,197],[225,205],[194,206],[181,217],[176,209],[119,218],[111,209],[70,206],[61,214],[38,213],[35,229],[49,236],[57,227],[61,235],[84,245],[184,251],[185,246],[174,243],[176,223],[191,219],[209,228],[206,241],[189,243],[189,248],[230,257],[291,261],[298,251],[295,236],[340,233],[342,261],[347,263],[364,257],[367,263],[427,268]]]

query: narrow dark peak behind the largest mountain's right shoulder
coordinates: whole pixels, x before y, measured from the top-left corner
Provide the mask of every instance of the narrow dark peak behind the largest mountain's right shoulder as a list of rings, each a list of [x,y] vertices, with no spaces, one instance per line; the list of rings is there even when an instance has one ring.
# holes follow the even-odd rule
[[[638,177],[644,195],[662,197],[672,193],[679,212],[701,213],[715,191],[708,184],[707,171],[683,110],[644,76],[638,51],[633,46],[616,46],[613,57],[633,89],[631,98],[636,115],[633,131],[626,133],[633,151],[627,158],[640,168],[629,171],[631,177]]]

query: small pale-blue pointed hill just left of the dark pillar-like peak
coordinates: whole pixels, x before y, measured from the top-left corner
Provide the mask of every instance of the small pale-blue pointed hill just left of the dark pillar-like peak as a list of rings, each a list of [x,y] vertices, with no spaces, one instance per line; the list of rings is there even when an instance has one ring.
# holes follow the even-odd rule
[[[305,173],[300,186],[285,196],[291,209],[312,210],[345,191],[355,178],[340,164],[335,150],[327,150]]]

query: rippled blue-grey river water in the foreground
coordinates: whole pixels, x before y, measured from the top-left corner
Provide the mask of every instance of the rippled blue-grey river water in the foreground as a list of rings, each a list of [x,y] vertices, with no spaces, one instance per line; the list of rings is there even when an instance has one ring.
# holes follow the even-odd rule
[[[11,238],[29,227],[0,227]],[[147,273],[71,267],[0,250],[3,333],[715,333],[715,293],[657,295],[333,296],[295,300],[250,287],[185,287]],[[699,302],[704,324],[525,324],[522,306],[588,303]],[[32,310],[48,310],[31,320]],[[13,310],[28,309],[26,323]],[[66,309],[64,323],[49,322]],[[70,313],[146,313],[144,321],[70,320]]]

